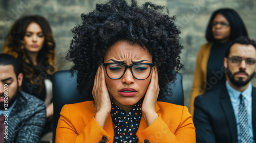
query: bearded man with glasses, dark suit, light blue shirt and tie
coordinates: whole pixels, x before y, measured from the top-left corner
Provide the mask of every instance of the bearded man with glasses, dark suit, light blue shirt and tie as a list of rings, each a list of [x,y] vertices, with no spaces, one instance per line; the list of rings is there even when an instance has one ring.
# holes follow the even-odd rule
[[[227,81],[222,88],[195,100],[197,142],[255,142],[256,88],[250,81],[256,71],[256,43],[247,37],[233,41],[224,58]]]

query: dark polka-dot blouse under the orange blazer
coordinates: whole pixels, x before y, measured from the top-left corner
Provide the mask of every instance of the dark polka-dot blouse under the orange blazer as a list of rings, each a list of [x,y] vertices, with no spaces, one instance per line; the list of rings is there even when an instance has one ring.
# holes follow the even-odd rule
[[[111,116],[115,123],[116,134],[114,137],[114,143],[126,142],[134,143],[138,142],[136,132],[139,127],[141,119],[141,105],[142,100],[134,105],[133,109],[126,113],[117,105],[112,102]]]

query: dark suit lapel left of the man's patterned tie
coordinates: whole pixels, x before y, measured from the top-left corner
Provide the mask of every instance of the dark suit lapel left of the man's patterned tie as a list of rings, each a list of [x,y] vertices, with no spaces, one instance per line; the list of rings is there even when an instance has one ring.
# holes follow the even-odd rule
[[[221,102],[222,109],[225,113],[232,138],[234,142],[238,142],[236,117],[234,116],[233,106],[231,104],[226,86],[222,87],[220,90],[220,102]]]

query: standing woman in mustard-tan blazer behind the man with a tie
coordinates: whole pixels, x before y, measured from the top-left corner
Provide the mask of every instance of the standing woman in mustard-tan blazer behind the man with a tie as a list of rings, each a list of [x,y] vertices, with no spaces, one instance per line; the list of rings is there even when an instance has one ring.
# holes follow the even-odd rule
[[[194,83],[191,91],[189,111],[194,113],[195,98],[223,86],[225,67],[223,65],[226,47],[231,40],[248,36],[245,25],[236,11],[229,8],[215,11],[206,29],[207,43],[197,55]]]

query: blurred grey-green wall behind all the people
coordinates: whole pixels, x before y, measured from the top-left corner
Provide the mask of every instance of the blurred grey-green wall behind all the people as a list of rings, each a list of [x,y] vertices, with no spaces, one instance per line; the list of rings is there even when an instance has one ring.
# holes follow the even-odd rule
[[[96,3],[103,0],[0,0],[0,53],[3,53],[4,39],[13,22],[20,16],[38,14],[46,17],[53,30],[56,42],[56,62],[58,70],[71,67],[65,59],[72,39],[71,29],[78,25],[81,13],[88,13]],[[139,5],[144,0],[138,0]],[[235,9],[242,17],[250,38],[256,39],[256,1],[255,0],[151,0],[164,5],[169,15],[176,15],[176,24],[181,29],[181,54],[185,70],[183,76],[185,105],[189,105],[193,84],[195,62],[200,46],[206,42],[205,29],[213,11],[219,8]],[[256,86],[255,78],[252,84]]]

